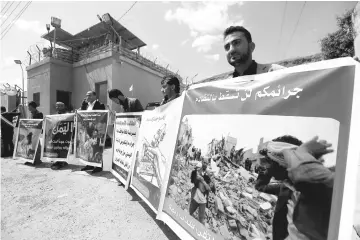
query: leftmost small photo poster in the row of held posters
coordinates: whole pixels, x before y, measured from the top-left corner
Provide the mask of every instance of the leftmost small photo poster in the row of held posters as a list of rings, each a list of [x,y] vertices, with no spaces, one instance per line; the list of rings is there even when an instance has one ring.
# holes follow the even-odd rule
[[[42,119],[20,119],[14,159],[34,163],[42,131]],[[39,149],[40,151],[40,149]]]

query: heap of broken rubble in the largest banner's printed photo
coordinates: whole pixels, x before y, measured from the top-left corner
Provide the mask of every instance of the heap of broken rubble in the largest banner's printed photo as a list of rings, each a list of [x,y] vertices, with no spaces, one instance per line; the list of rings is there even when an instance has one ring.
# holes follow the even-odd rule
[[[185,158],[180,155],[174,160],[177,167],[171,173],[174,181],[169,187],[169,194],[178,206],[188,212],[193,187],[190,175],[197,162],[185,166]],[[209,195],[205,226],[225,239],[272,239],[271,222],[277,198],[256,191],[256,176],[242,167],[225,160],[221,160],[217,166],[219,172],[212,177],[216,193]],[[197,212],[194,213],[196,219]]]

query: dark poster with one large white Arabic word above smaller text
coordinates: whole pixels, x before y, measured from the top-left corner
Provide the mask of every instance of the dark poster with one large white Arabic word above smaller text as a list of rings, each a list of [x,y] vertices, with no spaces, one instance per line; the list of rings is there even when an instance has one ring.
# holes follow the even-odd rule
[[[42,160],[63,161],[67,159],[74,129],[74,116],[74,113],[45,116]]]

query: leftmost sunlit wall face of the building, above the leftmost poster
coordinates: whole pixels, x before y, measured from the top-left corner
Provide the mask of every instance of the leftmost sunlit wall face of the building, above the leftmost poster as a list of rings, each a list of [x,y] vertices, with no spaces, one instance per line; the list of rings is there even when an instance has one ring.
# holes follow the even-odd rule
[[[50,114],[50,58],[27,67],[28,102],[33,101],[33,93],[40,92],[38,110]],[[29,116],[29,113],[27,113]]]

